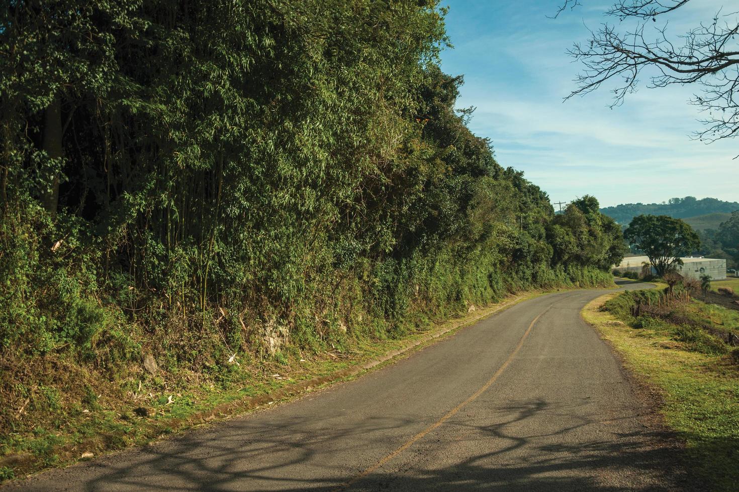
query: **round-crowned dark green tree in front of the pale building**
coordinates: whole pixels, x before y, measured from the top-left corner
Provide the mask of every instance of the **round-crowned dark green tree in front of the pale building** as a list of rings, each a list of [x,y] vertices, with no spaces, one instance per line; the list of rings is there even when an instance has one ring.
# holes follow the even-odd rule
[[[698,234],[688,224],[667,215],[633,218],[624,231],[624,238],[649,257],[659,277],[675,265],[681,265],[681,256],[691,254],[701,246]]]

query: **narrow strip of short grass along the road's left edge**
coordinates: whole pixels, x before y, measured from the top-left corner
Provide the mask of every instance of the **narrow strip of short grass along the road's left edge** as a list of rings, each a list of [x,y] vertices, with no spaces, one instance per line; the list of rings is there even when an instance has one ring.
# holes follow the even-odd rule
[[[475,325],[520,302],[567,290],[571,289],[553,288],[511,294],[500,302],[471,308],[467,313],[435,322],[428,328],[418,330],[402,339],[367,342],[361,347],[361,351],[353,350],[353,353],[343,354],[340,358],[317,357],[315,361],[299,364],[300,367],[290,365],[276,368],[279,374],[270,375],[268,372],[255,375],[265,381],[259,381],[260,384],[255,384],[253,388],[236,388],[234,391],[224,392],[219,401],[204,403],[199,409],[183,413],[177,412],[177,408],[171,406],[168,412],[155,412],[154,415],[140,417],[137,422],[140,426],[137,439],[131,442],[115,441],[119,446],[108,446],[107,441],[93,436],[87,441],[57,448],[55,452],[59,456],[58,461],[43,464],[30,453],[9,454],[0,459],[0,473],[4,471],[15,473],[1,477],[4,481],[0,480],[0,487],[21,482],[26,477],[33,477],[53,468],[66,468],[81,461],[97,460],[99,457],[126,452],[137,446],[147,446],[168,437],[181,436],[191,429],[214,426],[234,417],[266,411],[299,400],[338,383],[351,381],[389,364],[395,364],[418,350],[430,347],[446,337],[453,336],[459,330]]]

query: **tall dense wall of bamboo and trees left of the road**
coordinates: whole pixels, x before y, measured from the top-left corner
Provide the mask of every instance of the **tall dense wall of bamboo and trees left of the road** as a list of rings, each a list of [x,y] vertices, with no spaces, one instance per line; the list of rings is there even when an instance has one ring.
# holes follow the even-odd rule
[[[555,217],[496,162],[444,44],[435,1],[5,2],[3,452],[86,405],[64,378],[123,395],[144,354],[226,387],[249,361],[606,282],[619,226],[589,196]]]

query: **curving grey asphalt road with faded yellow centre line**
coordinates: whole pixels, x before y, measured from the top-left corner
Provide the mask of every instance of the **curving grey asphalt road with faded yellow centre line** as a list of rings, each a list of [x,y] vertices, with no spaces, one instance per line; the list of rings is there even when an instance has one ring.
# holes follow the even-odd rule
[[[530,299],[355,381],[17,486],[674,491],[679,448],[579,316],[603,293]]]

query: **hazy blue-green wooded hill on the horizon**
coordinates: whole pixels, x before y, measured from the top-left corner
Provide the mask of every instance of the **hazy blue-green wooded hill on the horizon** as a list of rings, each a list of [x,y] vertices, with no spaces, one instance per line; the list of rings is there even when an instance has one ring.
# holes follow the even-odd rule
[[[715,229],[721,220],[715,214],[730,214],[735,210],[739,210],[739,202],[723,201],[717,198],[702,198],[698,200],[694,196],[686,196],[685,198],[670,198],[670,201],[663,204],[621,204],[616,207],[605,207],[600,209],[602,213],[613,217],[619,224],[629,224],[631,219],[636,215],[670,215],[674,218],[695,218],[700,219],[696,222],[696,229]],[[724,217],[726,220],[728,217]],[[718,220],[718,223],[715,221]],[[701,224],[698,226],[698,224]],[[704,225],[704,224],[711,224]]]

